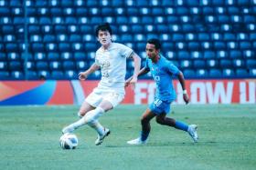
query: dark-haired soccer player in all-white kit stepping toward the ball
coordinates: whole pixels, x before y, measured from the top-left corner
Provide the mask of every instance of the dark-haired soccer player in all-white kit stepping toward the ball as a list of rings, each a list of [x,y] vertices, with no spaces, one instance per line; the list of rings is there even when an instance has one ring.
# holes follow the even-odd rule
[[[112,42],[112,28],[109,24],[98,25],[96,35],[101,47],[96,51],[95,63],[85,72],[81,72],[79,78],[85,80],[88,75],[101,68],[101,81],[80,106],[80,120],[64,127],[62,133],[72,133],[82,125],[90,125],[98,132],[95,145],[101,145],[104,137],[111,131],[103,127],[98,119],[123,101],[126,59],[133,58],[134,71],[131,83],[134,85],[137,82],[141,58],[128,46]]]

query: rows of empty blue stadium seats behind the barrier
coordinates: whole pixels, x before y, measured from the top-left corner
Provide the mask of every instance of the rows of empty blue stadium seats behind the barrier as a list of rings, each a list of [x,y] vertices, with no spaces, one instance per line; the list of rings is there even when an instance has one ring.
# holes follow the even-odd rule
[[[93,63],[103,22],[143,63],[146,40],[157,37],[187,78],[255,78],[255,14],[252,0],[37,0],[26,11],[21,0],[1,0],[0,79],[77,79]],[[131,61],[127,68],[131,75]]]

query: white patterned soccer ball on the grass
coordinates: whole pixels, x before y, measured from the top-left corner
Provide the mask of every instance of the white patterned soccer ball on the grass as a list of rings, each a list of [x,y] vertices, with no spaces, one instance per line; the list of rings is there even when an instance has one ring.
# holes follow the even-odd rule
[[[79,139],[74,134],[64,134],[59,138],[59,145],[62,149],[75,149],[79,145]]]

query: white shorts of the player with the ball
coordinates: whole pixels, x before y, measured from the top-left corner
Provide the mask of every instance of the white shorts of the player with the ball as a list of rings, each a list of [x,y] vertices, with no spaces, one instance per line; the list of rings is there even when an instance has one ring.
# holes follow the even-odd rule
[[[85,101],[92,105],[93,107],[97,107],[101,104],[102,100],[107,100],[112,104],[112,107],[119,105],[124,98],[124,93],[116,92],[114,90],[106,91],[101,90],[101,88],[95,88],[88,97],[86,97]]]

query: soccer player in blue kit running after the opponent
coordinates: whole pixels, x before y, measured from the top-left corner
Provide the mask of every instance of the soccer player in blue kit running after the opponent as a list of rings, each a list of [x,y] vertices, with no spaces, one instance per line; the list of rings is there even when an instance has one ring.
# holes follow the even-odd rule
[[[183,99],[186,104],[189,102],[189,98],[186,90],[186,83],[182,72],[168,61],[163,55],[160,55],[161,44],[158,39],[149,39],[146,44],[146,58],[145,66],[139,72],[139,75],[144,75],[151,72],[155,84],[156,94],[155,101],[149,108],[144,111],[141,118],[142,131],[138,138],[128,141],[129,145],[142,145],[147,141],[147,137],[150,133],[150,121],[155,117],[155,120],[160,125],[168,125],[175,127],[176,129],[183,130],[188,133],[194,142],[197,142],[197,125],[187,125],[183,122],[176,121],[173,118],[166,117],[170,112],[171,103],[176,100],[176,92],[172,83],[173,75],[177,76],[182,89]],[[132,78],[126,80],[126,86],[129,85]]]

